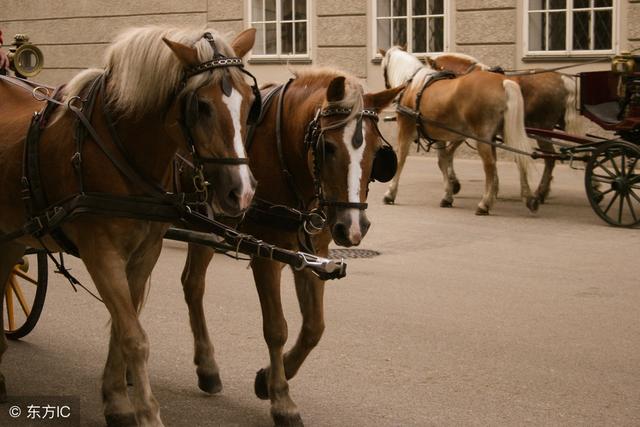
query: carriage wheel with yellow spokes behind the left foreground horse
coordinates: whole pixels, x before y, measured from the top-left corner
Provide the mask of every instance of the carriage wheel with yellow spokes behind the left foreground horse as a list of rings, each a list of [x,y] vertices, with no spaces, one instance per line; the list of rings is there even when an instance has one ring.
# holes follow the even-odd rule
[[[4,333],[17,340],[38,323],[47,296],[47,254],[29,251],[17,264],[5,288]]]

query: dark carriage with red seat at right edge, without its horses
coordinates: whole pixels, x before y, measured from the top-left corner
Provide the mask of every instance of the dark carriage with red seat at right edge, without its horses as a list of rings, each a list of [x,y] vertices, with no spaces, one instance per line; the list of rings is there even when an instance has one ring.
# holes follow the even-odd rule
[[[618,227],[640,225],[640,56],[621,54],[609,71],[579,74],[580,113],[613,138],[578,137],[528,128],[534,139],[551,142],[559,153],[535,152],[534,158],[585,162],[585,190],[594,212]]]

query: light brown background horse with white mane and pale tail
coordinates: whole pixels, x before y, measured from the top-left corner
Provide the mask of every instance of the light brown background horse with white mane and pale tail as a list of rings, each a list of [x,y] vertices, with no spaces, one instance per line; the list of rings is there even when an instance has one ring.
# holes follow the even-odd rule
[[[451,155],[467,138],[465,135],[491,141],[496,135],[502,134],[507,147],[525,153],[533,151],[524,130],[524,107],[517,83],[486,71],[429,83],[436,70],[424,66],[415,56],[397,46],[381,53],[384,54],[382,66],[385,84],[397,86],[410,80],[399,103],[407,111],[419,112],[421,116],[418,119],[414,115],[398,113],[398,171],[384,196],[385,203],[392,204],[395,201],[409,146],[418,136],[426,136],[441,146],[450,141],[438,151]],[[420,105],[416,105],[418,98]],[[477,145],[484,166],[485,192],[476,214],[487,215],[498,193],[496,156],[492,146],[485,143]],[[529,210],[535,211],[538,200],[531,194],[528,183],[531,158],[516,154],[515,160],[520,172],[521,197]],[[446,156],[440,155],[438,166],[445,187],[445,195],[440,202],[442,207],[452,206],[455,193],[455,183],[447,173],[447,164]]]

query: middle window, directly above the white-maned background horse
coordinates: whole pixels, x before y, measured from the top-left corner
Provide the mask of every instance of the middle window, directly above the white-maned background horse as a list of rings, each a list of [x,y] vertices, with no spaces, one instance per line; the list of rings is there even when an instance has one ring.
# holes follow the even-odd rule
[[[445,50],[445,0],[376,0],[374,4],[378,48],[406,45],[414,53]]]

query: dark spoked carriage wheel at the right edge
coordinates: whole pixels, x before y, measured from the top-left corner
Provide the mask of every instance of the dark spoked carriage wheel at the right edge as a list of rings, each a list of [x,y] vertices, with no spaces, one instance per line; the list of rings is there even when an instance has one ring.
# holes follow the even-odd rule
[[[640,147],[626,141],[598,146],[587,162],[585,187],[600,218],[616,227],[640,224]]]

